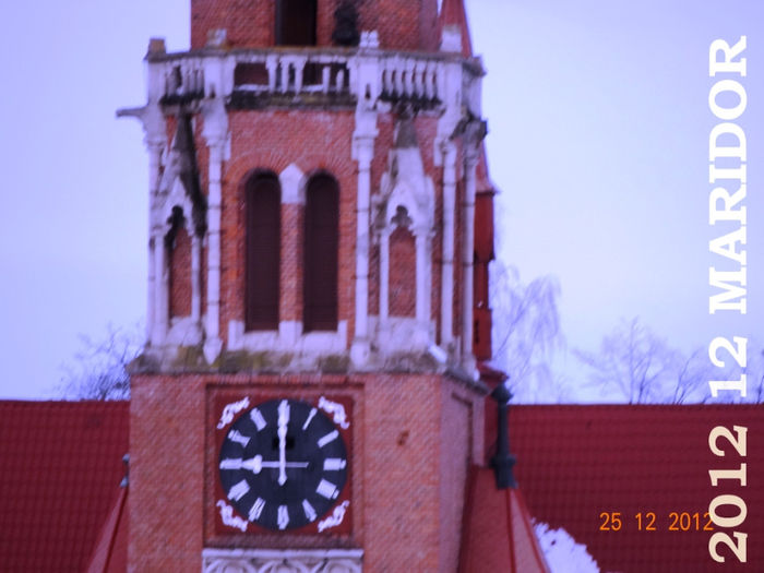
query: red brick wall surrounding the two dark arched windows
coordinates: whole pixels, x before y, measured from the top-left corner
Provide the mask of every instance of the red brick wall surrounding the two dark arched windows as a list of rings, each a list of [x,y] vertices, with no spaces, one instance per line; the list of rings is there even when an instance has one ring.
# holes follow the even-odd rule
[[[356,163],[350,157],[351,111],[236,111],[230,115],[231,157],[224,166],[222,210],[220,333],[243,320],[243,182],[256,168],[278,174],[296,164],[306,176],[332,174],[339,184],[338,319],[353,333],[356,270]],[[280,320],[302,318],[301,205],[282,205]]]

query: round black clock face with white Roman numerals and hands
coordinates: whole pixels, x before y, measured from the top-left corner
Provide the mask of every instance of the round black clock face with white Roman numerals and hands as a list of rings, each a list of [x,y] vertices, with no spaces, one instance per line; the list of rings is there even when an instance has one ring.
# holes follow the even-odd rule
[[[320,409],[273,399],[234,422],[218,467],[223,490],[244,518],[268,529],[295,529],[336,502],[347,480],[347,450]]]

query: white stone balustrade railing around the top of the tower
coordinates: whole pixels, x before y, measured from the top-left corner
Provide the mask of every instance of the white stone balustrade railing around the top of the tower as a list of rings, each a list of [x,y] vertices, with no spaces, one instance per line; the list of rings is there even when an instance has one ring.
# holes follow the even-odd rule
[[[360,48],[203,49],[150,52],[150,102],[180,104],[223,96],[248,105],[334,103],[360,97],[409,100],[438,108],[446,92],[458,91],[479,111],[479,61],[449,52],[402,52]],[[452,99],[454,102],[454,99]],[[249,104],[247,104],[249,103]],[[478,109],[475,109],[477,106]]]

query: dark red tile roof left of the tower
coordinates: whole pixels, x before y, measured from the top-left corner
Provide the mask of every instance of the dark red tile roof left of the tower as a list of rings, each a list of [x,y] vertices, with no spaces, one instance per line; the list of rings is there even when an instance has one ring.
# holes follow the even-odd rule
[[[83,571],[127,451],[127,402],[0,402],[2,571]]]

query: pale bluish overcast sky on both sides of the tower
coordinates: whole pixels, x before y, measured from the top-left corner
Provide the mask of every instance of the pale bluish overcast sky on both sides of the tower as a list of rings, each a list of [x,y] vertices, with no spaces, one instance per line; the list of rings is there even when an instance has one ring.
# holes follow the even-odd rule
[[[52,397],[80,334],[143,320],[147,157],[140,124],[115,110],[145,100],[151,36],[188,48],[188,4],[2,9],[0,397]],[[635,315],[685,350],[716,335],[764,338],[762,4],[468,2],[488,70],[500,256],[526,280],[558,277],[569,346],[595,349]],[[749,312],[709,318],[707,52],[743,34]]]

